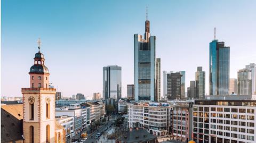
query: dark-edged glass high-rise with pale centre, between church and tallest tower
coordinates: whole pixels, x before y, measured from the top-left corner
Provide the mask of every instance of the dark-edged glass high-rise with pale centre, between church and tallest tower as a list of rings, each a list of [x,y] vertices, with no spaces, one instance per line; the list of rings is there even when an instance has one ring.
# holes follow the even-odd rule
[[[122,97],[122,68],[117,65],[103,67],[103,99]]]

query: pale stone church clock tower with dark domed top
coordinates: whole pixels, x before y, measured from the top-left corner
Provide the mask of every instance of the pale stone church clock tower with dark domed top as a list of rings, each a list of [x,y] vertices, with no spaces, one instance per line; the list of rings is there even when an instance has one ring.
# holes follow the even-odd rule
[[[25,143],[47,143],[55,141],[55,92],[49,88],[49,70],[45,66],[44,55],[35,54],[31,66],[30,88],[22,88],[23,95],[23,136]]]

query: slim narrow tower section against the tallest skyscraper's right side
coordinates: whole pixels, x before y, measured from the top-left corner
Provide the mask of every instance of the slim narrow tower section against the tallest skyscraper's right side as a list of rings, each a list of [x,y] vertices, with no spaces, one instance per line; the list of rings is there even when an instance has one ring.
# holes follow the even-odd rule
[[[161,100],[161,58],[156,58],[156,97],[155,101]]]

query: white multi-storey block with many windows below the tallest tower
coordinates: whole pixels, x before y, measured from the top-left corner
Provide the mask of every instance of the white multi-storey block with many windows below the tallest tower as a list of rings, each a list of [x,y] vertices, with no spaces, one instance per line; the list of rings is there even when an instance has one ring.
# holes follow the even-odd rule
[[[168,103],[130,103],[128,127],[144,128],[156,136],[172,132],[172,107]]]

